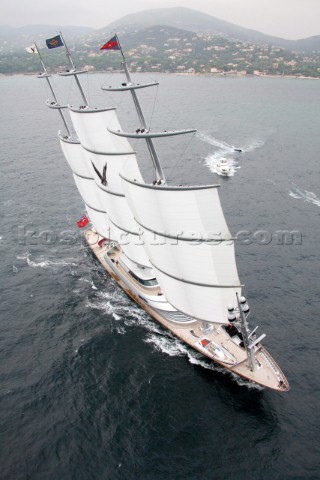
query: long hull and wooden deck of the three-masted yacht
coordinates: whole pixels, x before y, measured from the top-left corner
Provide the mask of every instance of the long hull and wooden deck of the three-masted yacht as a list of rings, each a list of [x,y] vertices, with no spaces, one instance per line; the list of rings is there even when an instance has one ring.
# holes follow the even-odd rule
[[[289,382],[279,365],[261,344],[258,344],[255,350],[258,368],[252,371],[249,368],[245,350],[230,337],[223,324],[214,324],[209,331],[204,331],[202,322],[197,319],[184,315],[182,315],[183,321],[180,317],[176,320],[172,319],[171,312],[166,309],[163,302],[161,303],[159,293],[148,294],[145,289],[135,285],[133,280],[130,281],[129,276],[121,269],[117,260],[122,254],[120,248],[117,248],[115,254],[109,255],[108,252],[111,249],[108,241],[101,242],[102,237],[92,228],[85,232],[85,238],[103,268],[124,292],[182,342],[252,383],[279,392],[289,390]],[[155,300],[153,302],[152,297]]]

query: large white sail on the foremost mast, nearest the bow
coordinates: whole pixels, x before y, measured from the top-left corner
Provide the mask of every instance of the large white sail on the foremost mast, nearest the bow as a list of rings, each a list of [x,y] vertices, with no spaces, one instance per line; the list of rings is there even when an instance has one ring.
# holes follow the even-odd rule
[[[217,186],[155,187],[124,178],[124,190],[167,300],[200,320],[227,323],[241,285]]]

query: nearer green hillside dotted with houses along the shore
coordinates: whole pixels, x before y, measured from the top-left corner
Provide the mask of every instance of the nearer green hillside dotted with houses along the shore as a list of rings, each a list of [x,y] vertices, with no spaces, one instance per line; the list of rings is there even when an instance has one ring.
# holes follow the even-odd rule
[[[121,58],[117,52],[106,56],[100,51],[103,38],[100,32],[72,43],[72,54],[79,68],[93,72],[119,70]],[[124,34],[122,41],[133,72],[320,78],[319,51],[303,53],[165,26]],[[42,47],[40,41],[39,48]],[[47,65],[52,71],[64,69],[64,52],[54,53],[44,50]],[[2,74],[33,73],[37,71],[37,64],[38,59],[28,56],[22,48],[11,49],[8,44],[0,47]]]

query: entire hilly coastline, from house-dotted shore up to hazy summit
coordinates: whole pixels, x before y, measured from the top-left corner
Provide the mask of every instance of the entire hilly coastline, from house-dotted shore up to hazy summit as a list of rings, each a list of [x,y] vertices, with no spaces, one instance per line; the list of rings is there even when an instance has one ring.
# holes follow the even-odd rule
[[[149,26],[155,22],[156,25]],[[179,24],[181,27],[170,26],[168,23]],[[291,41],[294,48],[290,50],[279,46],[282,39],[246,30],[186,8],[146,10],[123,17],[99,30],[86,27],[63,28],[75,64],[79,68],[95,71],[120,68],[121,56],[118,52],[99,50],[115,31],[121,38],[130,68],[137,72],[267,74],[320,78],[320,48],[318,52],[312,53],[299,52],[297,49],[298,43],[304,45],[305,50],[311,45],[316,48],[320,36]],[[42,50],[45,63],[52,72],[66,68],[64,49],[48,51],[45,46],[45,39],[58,32],[59,28],[53,26],[38,25],[20,29],[0,27],[0,73],[32,73],[41,69],[38,56],[25,52],[24,47],[34,41]],[[245,40],[239,40],[241,36]],[[258,37],[260,41],[257,40]]]

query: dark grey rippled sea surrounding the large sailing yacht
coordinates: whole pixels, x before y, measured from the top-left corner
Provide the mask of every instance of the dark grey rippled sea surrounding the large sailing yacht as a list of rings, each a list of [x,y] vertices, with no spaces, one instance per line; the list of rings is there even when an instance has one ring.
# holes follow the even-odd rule
[[[1,77],[0,478],[319,479],[320,82],[156,78],[139,93],[152,128],[198,129],[157,143],[165,173],[221,184],[250,324],[291,390],[210,363],[108,277],[76,227],[84,206],[45,80]],[[123,77],[81,80],[91,105],[137,128],[129,96],[100,90]],[[77,104],[72,79],[53,82]]]

